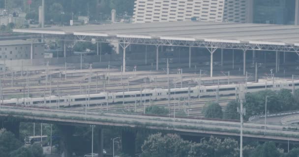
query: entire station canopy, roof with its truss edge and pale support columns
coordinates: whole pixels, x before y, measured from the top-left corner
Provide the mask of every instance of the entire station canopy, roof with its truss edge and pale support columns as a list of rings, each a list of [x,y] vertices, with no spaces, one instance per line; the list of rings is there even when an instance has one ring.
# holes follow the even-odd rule
[[[244,75],[246,72],[244,54],[248,50],[276,52],[276,71],[278,52],[299,53],[299,26],[184,21],[14,29],[14,32],[56,34],[62,41],[91,42],[94,39],[98,43],[118,41],[123,48],[123,67],[125,67],[125,50],[130,44],[154,45],[157,48],[156,54],[159,53],[159,46],[207,48],[211,54],[211,77],[213,53],[217,49],[242,50]],[[191,49],[189,65],[190,52]],[[158,70],[159,58],[156,56]]]

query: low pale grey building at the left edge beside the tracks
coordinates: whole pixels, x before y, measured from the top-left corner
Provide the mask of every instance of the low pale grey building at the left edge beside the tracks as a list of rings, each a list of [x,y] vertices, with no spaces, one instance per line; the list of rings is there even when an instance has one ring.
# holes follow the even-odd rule
[[[31,40],[0,41],[0,60],[30,59]],[[38,41],[32,44],[32,59],[44,57],[44,44]]]

